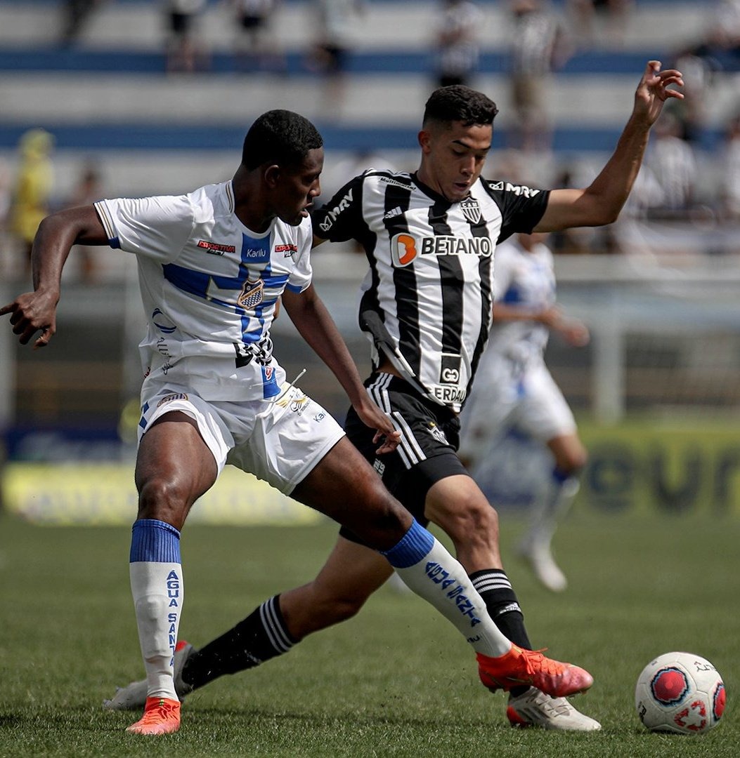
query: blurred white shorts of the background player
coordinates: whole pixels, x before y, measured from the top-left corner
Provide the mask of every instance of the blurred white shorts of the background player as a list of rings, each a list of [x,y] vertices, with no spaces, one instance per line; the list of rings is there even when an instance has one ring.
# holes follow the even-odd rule
[[[512,428],[542,443],[577,428],[573,412],[542,363],[527,368],[519,381],[512,381],[505,371],[479,374],[460,420],[460,454],[469,461],[484,455]]]

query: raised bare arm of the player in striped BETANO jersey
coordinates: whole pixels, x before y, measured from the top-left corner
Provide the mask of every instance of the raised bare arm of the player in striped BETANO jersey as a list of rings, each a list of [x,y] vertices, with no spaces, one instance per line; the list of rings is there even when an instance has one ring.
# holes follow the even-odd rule
[[[616,221],[640,171],[650,128],[669,98],[683,99],[683,78],[675,69],[660,70],[648,61],[635,92],[632,114],[616,149],[598,177],[586,189],[553,189],[535,231],[596,227]]]

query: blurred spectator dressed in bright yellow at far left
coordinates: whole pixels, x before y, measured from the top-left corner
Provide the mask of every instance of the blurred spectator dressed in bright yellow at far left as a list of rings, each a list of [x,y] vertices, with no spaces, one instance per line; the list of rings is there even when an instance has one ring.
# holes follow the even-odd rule
[[[43,129],[28,130],[18,143],[18,164],[11,196],[10,231],[20,247],[22,271],[31,271],[31,246],[41,220],[49,215],[54,183],[54,138]]]

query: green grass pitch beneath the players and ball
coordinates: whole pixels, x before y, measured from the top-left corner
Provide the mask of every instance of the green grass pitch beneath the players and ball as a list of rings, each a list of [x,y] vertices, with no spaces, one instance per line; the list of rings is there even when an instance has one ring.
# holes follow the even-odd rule
[[[197,507],[197,506],[196,506]],[[140,738],[138,714],[101,707],[142,666],[126,528],[40,528],[0,515],[0,756],[736,756],[740,520],[598,515],[576,509],[556,537],[572,586],[560,596],[502,545],[533,644],[589,669],[575,703],[595,734],[518,730],[505,696],[425,603],[383,588],[355,619],[185,703],[176,735]],[[181,637],[196,646],[261,600],[307,581],[335,537],[304,528],[186,527]],[[635,680],[657,653],[689,650],[723,674],[723,722],[699,737],[651,735]]]

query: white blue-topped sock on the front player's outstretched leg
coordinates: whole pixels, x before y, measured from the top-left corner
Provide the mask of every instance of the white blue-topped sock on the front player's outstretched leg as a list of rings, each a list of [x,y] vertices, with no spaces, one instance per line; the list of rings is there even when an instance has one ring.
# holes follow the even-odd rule
[[[458,628],[476,653],[497,658],[511,650],[512,643],[491,620],[465,569],[418,522],[383,555],[411,590]]]

